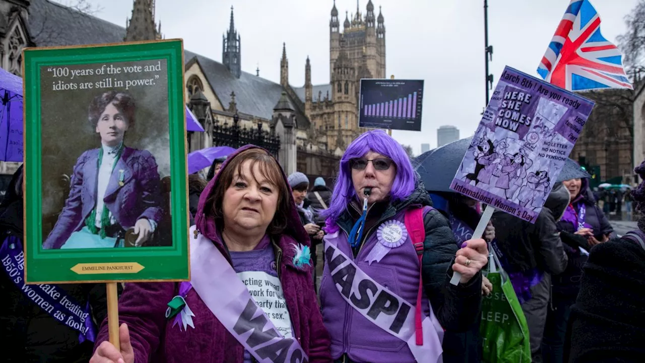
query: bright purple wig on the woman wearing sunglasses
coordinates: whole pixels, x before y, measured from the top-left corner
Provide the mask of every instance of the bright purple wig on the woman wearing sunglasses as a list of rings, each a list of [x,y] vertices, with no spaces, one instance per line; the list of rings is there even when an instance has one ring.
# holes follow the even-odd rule
[[[394,161],[397,167],[392,189],[390,190],[390,200],[392,202],[404,200],[414,191],[417,173],[412,168],[410,158],[401,144],[388,136],[383,130],[365,132],[356,138],[345,150],[345,153],[342,154],[338,177],[333,187],[332,201],[329,209],[322,212],[322,215],[326,218],[328,231],[333,232],[337,229],[336,220],[347,209],[352,199],[356,198],[352,183],[350,160],[362,158],[370,151],[387,156]]]

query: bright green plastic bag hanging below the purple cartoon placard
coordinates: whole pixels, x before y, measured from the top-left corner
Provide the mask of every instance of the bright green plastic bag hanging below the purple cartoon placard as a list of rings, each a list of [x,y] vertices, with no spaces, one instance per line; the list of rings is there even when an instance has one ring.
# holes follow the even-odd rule
[[[531,346],[528,325],[513,285],[504,270],[497,270],[499,261],[491,255],[490,271],[486,276],[493,285],[488,296],[482,296],[482,362],[530,363]]]

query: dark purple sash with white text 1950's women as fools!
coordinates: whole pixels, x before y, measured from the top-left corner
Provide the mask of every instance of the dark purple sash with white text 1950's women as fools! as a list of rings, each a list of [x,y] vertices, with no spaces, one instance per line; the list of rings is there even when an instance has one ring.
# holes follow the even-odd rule
[[[6,275],[34,304],[46,311],[52,318],[79,331],[79,342],[82,343],[85,340],[95,342],[96,329],[92,321],[92,314],[90,314],[89,300],[83,309],[72,297],[64,293],[63,290],[59,290],[57,285],[25,284],[25,273],[23,273],[25,254],[19,238],[8,236],[5,239],[0,247],[0,260],[2,260]]]

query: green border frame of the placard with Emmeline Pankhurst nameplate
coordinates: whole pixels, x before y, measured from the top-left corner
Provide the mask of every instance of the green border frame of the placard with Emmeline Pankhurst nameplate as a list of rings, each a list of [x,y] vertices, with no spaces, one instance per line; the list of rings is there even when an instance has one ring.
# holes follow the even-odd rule
[[[170,209],[172,246],[109,249],[50,249],[43,244],[41,67],[166,59],[168,72],[168,130],[170,133]],[[25,282],[71,284],[79,282],[162,282],[190,280],[188,248],[188,170],[184,51],[181,39],[141,41],[23,50],[25,143]],[[177,122],[177,121],[179,122]],[[183,216],[183,217],[181,217]],[[136,273],[76,273],[79,264],[130,265]],[[141,267],[139,267],[141,268]],[[100,271],[107,271],[101,267]],[[119,271],[118,269],[110,269]]]

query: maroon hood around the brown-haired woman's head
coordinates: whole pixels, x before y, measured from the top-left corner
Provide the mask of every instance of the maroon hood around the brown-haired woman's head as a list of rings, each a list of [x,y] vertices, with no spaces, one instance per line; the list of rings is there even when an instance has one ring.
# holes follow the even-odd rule
[[[255,145],[246,145],[235,150],[235,152],[230,154],[226,158],[226,161],[224,161],[224,163],[222,164],[222,168],[220,169],[220,172],[217,173],[217,175],[215,175],[212,178],[212,180],[210,180],[210,182],[208,182],[208,184],[206,185],[206,188],[204,188],[204,191],[201,193],[201,196],[199,196],[199,205],[197,205],[197,214],[195,216],[195,227],[197,227],[197,231],[199,231],[199,233],[203,234],[206,238],[211,240],[213,244],[215,244],[215,246],[220,250],[220,252],[224,256],[226,256],[229,262],[230,262],[230,257],[229,257],[228,251],[226,251],[226,247],[224,247],[224,241],[221,238],[221,227],[223,226],[215,225],[215,219],[212,218],[212,216],[210,216],[212,205],[207,202],[211,194],[215,192],[215,185],[217,185],[219,176],[223,174],[222,171],[226,169],[228,165],[230,165],[230,162],[233,159],[235,159],[235,157],[240,152],[243,152],[244,150],[248,150],[248,149],[264,150],[261,147],[257,147]],[[289,183],[287,183],[286,175],[284,174],[283,169],[280,168],[280,171],[283,176],[284,183],[286,183],[286,185],[289,185]],[[291,190],[290,188],[288,189]],[[288,205],[290,206],[290,211],[289,211],[291,216],[290,219],[293,221],[299,222],[300,216],[296,209],[295,202],[293,201],[292,194],[289,193],[287,198],[289,202]],[[293,244],[293,242],[296,242],[302,245],[310,245],[309,235],[304,230],[302,223],[288,223],[287,227],[284,229],[281,235],[271,236],[271,238],[272,238],[272,241],[277,244],[277,247],[282,249],[284,262],[287,265],[290,265],[291,267],[293,267],[293,256],[295,256],[295,251],[290,245]]]

